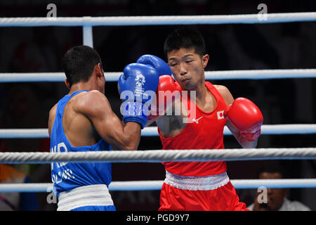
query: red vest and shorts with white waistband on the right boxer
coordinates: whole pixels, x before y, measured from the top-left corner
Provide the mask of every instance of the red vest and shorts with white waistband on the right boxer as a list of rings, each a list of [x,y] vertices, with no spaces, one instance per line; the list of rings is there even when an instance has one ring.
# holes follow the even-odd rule
[[[227,105],[215,86],[209,82],[205,85],[216,98],[215,110],[205,113],[193,101],[186,102],[182,98],[189,112],[189,123],[172,138],[162,137],[158,129],[164,150],[224,148],[226,120],[223,112]],[[191,107],[196,108],[195,115],[190,115]],[[247,210],[230,183],[225,162],[164,162],[163,165],[166,179],[160,194],[159,211]]]

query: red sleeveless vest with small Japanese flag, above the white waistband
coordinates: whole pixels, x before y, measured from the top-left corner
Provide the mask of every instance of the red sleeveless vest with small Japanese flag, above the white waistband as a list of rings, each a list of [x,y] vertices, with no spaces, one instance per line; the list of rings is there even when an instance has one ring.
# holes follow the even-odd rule
[[[227,105],[218,90],[210,82],[206,87],[216,98],[217,106],[211,113],[200,110],[195,103],[187,101],[187,107],[196,108],[196,116],[189,115],[188,123],[180,134],[164,138],[158,129],[163,150],[183,149],[223,149],[223,129],[226,123],[223,112]],[[188,96],[190,97],[190,96]],[[190,99],[190,98],[189,98]],[[186,105],[186,102],[185,102]],[[190,112],[190,110],[188,110]],[[192,122],[191,122],[192,121]],[[164,162],[166,170],[181,176],[209,176],[226,171],[226,163],[218,162]]]

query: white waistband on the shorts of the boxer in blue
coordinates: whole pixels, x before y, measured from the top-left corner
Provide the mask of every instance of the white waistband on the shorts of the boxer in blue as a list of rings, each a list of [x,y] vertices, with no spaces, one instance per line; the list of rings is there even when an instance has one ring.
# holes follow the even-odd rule
[[[114,205],[105,184],[94,184],[64,191],[58,197],[58,211],[70,211],[87,205]]]

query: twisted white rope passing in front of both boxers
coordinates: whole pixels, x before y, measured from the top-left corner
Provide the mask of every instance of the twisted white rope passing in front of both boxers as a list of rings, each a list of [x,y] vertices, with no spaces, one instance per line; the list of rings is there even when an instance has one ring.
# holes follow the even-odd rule
[[[315,160],[316,148],[229,148],[198,150],[111,150],[69,153],[0,153],[0,163],[51,162],[206,162],[241,160]]]

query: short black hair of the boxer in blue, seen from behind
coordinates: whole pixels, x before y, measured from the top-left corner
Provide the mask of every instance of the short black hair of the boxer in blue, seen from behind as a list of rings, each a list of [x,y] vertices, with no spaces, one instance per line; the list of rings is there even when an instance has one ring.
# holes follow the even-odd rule
[[[99,53],[89,46],[74,46],[62,57],[64,70],[70,86],[78,82],[87,82],[94,67],[101,62]]]

